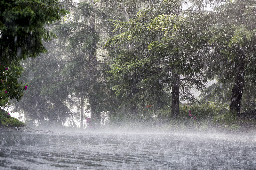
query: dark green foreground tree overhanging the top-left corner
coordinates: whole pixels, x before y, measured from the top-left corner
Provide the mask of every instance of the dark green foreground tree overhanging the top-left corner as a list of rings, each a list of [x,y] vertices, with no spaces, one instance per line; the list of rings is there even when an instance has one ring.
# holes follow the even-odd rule
[[[42,39],[48,41],[55,36],[44,25],[59,20],[60,15],[66,13],[55,0],[0,1],[0,64],[2,68],[9,69],[1,71],[0,76],[5,76],[5,82],[13,83],[1,83],[1,107],[6,105],[7,97],[21,99],[23,90],[20,90],[20,86],[23,85],[18,82],[22,71],[20,60],[46,52]],[[8,95],[3,93],[7,91],[6,85]]]

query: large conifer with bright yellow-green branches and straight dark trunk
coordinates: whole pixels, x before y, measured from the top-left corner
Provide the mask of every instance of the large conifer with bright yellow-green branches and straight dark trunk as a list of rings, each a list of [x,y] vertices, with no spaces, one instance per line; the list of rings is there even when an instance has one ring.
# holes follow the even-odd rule
[[[194,100],[190,88],[202,90],[206,82],[201,70],[208,48],[201,35],[210,18],[205,11],[183,13],[181,7],[181,1],[154,2],[129,22],[118,22],[114,31],[122,33],[107,43],[110,54],[115,54],[110,72],[119,81],[113,87],[116,95],[130,101],[142,96],[139,99],[161,108],[172,90],[173,118],[179,115],[180,90],[183,99]]]

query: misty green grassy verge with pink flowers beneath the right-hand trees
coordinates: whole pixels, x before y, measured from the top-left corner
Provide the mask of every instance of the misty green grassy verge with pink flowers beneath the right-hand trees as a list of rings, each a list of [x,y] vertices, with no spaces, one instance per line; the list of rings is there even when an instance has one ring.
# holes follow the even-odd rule
[[[191,114],[192,116],[189,116]],[[196,119],[193,119],[196,117]],[[119,114],[109,117],[106,124],[110,129],[170,131],[234,131],[247,132],[256,129],[256,120],[236,119],[229,116],[227,105],[208,102],[201,105],[180,106],[180,115],[171,119],[171,109],[166,107],[157,112],[140,115]]]

